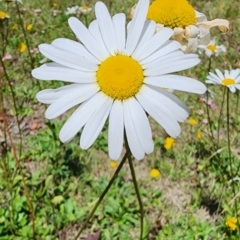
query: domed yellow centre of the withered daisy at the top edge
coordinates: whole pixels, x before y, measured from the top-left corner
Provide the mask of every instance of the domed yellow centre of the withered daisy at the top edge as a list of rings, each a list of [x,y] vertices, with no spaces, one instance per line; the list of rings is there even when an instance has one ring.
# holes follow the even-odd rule
[[[172,29],[185,28],[197,21],[187,0],[155,0],[149,7],[147,18]]]

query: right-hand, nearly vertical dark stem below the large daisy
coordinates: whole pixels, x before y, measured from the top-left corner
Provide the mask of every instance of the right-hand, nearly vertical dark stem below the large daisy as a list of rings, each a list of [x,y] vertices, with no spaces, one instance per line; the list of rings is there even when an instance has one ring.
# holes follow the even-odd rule
[[[144,209],[143,209],[143,203],[142,203],[141,195],[140,195],[138,184],[137,184],[137,179],[136,179],[131,155],[128,156],[128,164],[129,164],[129,167],[130,167],[130,170],[131,170],[133,185],[134,185],[134,189],[135,189],[135,192],[136,192],[136,195],[137,195],[138,204],[139,204],[139,208],[140,208],[140,238],[139,239],[142,240],[143,239]]]

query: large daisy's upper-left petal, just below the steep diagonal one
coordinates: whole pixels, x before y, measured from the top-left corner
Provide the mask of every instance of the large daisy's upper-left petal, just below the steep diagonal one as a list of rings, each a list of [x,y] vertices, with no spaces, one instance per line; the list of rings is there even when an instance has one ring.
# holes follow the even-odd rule
[[[52,42],[52,45],[66,51],[77,54],[87,60],[99,64],[100,61],[95,58],[81,43],[67,39],[67,38],[57,38]]]

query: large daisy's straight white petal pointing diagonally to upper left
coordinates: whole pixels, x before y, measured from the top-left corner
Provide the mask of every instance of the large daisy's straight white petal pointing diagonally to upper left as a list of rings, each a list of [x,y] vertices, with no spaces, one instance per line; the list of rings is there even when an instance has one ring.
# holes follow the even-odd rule
[[[89,30],[75,17],[68,19],[68,24],[77,38],[84,44],[89,52],[92,53],[100,61],[104,60],[107,56],[106,53],[93,38]]]

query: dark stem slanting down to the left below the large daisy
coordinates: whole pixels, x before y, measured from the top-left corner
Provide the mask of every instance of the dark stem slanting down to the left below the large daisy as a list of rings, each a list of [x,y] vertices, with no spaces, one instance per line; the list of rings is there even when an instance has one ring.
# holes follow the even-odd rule
[[[89,220],[91,219],[91,217],[93,216],[93,214],[95,213],[95,211],[97,210],[98,206],[100,205],[100,203],[102,202],[102,200],[104,199],[105,195],[108,193],[109,189],[111,188],[112,184],[114,183],[116,177],[118,176],[118,173],[120,172],[120,170],[123,167],[123,164],[126,162],[126,160],[128,159],[128,157],[130,156],[131,152],[129,150],[129,148],[127,148],[127,151],[122,159],[122,161],[120,162],[117,170],[115,171],[115,173],[113,174],[111,180],[109,181],[107,187],[104,189],[104,191],[102,192],[101,196],[99,197],[97,203],[95,204],[94,208],[92,209],[92,211],[89,213],[89,215],[87,216],[87,219],[85,220],[85,222],[83,223],[82,227],[80,228],[79,232],[77,233],[76,237],[74,238],[74,240],[77,240],[79,238],[79,236],[81,235],[81,233],[83,232],[83,230],[86,228]]]

